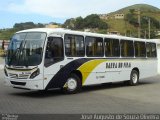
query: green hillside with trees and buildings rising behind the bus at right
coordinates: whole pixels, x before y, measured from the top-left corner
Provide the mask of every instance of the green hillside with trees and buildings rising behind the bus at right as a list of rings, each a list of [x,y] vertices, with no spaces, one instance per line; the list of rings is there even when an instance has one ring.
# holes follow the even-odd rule
[[[139,16],[137,10],[140,11],[141,25],[139,25],[138,22]],[[89,29],[91,32],[104,34],[120,33],[121,35],[138,37],[138,28],[141,26],[141,38],[147,38],[149,37],[149,19],[151,26],[150,38],[156,38],[158,31],[160,31],[160,9],[147,4],[132,5],[109,14],[98,16],[96,14],[91,14],[86,16],[86,18],[71,18],[66,20],[63,27],[73,30],[84,31]]]

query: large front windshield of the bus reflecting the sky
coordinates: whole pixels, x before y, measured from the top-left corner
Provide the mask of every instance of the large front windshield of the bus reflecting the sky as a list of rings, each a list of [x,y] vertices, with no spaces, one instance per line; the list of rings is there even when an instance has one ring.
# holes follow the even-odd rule
[[[36,66],[42,61],[46,33],[28,32],[15,34],[8,47],[6,64]]]

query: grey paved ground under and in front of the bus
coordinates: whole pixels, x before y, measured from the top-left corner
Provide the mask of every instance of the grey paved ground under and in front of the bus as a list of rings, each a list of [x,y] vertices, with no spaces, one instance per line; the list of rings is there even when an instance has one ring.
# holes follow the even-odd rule
[[[4,86],[3,80],[0,70],[1,114],[160,113],[160,75],[138,86],[97,85],[72,95],[15,89]]]

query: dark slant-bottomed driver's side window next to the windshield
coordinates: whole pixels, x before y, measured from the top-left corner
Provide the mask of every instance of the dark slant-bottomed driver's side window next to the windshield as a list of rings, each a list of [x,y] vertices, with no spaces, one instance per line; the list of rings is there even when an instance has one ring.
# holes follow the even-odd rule
[[[63,53],[62,38],[49,37],[45,52],[45,66],[48,67],[63,59],[64,59],[64,53]]]

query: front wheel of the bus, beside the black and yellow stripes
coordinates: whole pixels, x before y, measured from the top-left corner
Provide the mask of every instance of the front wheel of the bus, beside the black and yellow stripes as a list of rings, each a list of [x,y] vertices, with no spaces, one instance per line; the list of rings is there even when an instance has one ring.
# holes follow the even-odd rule
[[[71,74],[66,82],[63,92],[67,94],[75,94],[81,91],[82,82],[76,74]]]

